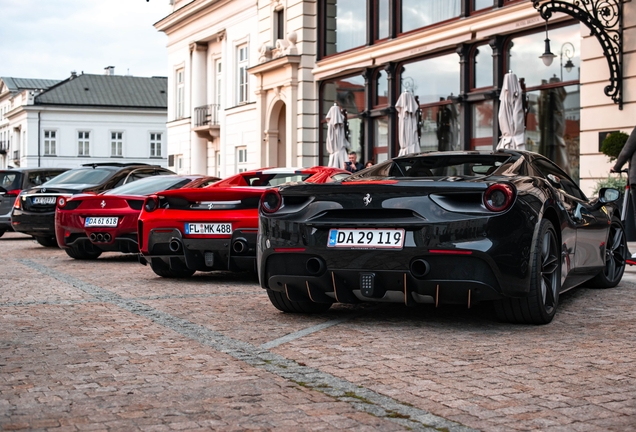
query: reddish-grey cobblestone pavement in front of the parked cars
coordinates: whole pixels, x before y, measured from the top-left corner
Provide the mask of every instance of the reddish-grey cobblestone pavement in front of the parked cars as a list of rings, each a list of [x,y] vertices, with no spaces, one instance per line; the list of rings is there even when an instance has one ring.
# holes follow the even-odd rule
[[[521,326],[283,314],[250,274],[162,279],[15,233],[0,251],[0,430],[636,430],[636,270]]]

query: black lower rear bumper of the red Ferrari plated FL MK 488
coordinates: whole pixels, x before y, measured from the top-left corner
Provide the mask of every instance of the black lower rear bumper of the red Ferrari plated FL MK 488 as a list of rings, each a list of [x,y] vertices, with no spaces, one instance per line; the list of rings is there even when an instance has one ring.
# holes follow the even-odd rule
[[[255,271],[256,235],[255,229],[239,229],[231,238],[192,239],[178,229],[151,230],[142,262],[159,260],[171,269]]]

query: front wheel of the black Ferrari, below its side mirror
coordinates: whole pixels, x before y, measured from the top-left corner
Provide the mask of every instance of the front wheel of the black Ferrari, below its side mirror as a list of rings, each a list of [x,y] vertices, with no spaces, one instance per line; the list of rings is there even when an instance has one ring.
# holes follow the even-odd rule
[[[623,278],[625,272],[625,256],[627,255],[627,239],[625,228],[618,219],[612,220],[605,248],[605,268],[585,286],[591,288],[614,288]]]

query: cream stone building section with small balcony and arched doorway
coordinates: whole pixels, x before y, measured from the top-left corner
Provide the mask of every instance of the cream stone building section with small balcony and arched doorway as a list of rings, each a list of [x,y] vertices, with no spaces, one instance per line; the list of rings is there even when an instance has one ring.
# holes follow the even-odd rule
[[[155,24],[171,67],[168,167],[228,176],[315,165],[315,5],[177,0],[172,9]]]

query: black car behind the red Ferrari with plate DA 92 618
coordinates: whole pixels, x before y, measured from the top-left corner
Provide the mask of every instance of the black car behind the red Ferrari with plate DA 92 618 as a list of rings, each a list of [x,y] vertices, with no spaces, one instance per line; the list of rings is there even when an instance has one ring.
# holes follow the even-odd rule
[[[55,207],[60,196],[100,193],[145,177],[174,174],[158,165],[94,163],[84,164],[41,186],[23,190],[11,214],[13,229],[30,234],[42,246],[57,246]]]

